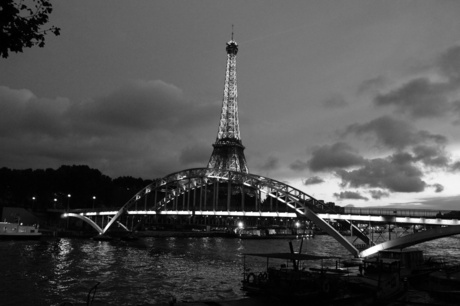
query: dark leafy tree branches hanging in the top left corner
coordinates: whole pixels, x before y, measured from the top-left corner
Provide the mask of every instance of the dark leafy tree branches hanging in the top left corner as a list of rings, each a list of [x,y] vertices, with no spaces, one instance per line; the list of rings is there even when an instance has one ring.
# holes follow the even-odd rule
[[[0,53],[7,58],[10,52],[22,52],[23,48],[45,45],[49,32],[58,36],[60,28],[42,29],[53,11],[50,0],[1,0],[0,1]]]

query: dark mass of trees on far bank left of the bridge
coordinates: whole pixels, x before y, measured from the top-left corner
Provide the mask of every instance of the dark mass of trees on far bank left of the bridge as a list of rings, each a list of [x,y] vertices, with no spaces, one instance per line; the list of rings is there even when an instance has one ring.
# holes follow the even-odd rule
[[[91,208],[93,204],[95,207],[121,207],[150,183],[129,176],[112,180],[85,165],[61,166],[57,170],[0,168],[0,206],[34,210],[54,206],[66,208],[67,205]]]

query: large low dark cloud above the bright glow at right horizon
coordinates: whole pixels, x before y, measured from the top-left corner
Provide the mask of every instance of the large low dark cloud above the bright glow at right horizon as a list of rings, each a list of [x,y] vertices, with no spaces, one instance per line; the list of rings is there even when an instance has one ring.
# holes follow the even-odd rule
[[[423,173],[412,163],[398,163],[391,157],[367,160],[363,167],[336,172],[342,187],[381,188],[394,192],[421,192],[426,183]]]

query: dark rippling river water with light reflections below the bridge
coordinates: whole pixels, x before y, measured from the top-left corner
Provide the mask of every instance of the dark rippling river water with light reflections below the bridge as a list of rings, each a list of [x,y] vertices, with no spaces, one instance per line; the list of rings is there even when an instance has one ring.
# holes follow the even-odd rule
[[[241,291],[242,253],[287,252],[289,240],[237,238],[142,238],[134,242],[43,238],[0,241],[0,305],[85,303],[151,305],[178,301],[228,300]],[[295,250],[300,240],[293,240]],[[427,256],[460,263],[460,237],[420,244]],[[332,237],[303,242],[303,251],[350,257]]]

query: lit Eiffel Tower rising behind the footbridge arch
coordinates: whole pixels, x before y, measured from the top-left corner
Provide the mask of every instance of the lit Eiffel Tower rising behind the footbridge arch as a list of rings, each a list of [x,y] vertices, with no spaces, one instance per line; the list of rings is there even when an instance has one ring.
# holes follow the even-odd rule
[[[249,173],[244,157],[238,120],[238,90],[236,86],[236,54],[238,44],[227,42],[227,69],[225,72],[224,97],[220,114],[219,130],[208,168]]]

